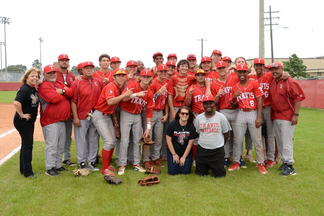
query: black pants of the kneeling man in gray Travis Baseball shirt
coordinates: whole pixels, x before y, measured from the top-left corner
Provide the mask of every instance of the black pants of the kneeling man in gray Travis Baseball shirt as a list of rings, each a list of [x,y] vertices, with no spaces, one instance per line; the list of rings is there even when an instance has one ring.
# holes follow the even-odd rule
[[[196,174],[208,175],[208,170],[211,169],[215,178],[226,176],[224,156],[224,146],[205,149],[198,145],[196,151]]]

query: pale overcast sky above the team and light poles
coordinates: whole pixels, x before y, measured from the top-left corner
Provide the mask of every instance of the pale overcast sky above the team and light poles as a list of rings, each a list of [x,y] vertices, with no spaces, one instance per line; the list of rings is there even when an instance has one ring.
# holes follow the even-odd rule
[[[324,54],[323,1],[265,0],[264,10],[280,11],[274,19],[274,57],[316,57]],[[154,52],[178,60],[214,49],[223,56],[255,58],[259,55],[259,1],[3,1],[0,16],[11,18],[6,25],[7,65],[31,67],[40,58],[43,66],[70,57],[70,65],[93,61],[108,54],[128,60],[142,60],[152,67]],[[269,15],[265,15],[269,16]],[[269,23],[269,22],[266,22]],[[274,27],[275,28],[275,27]],[[270,27],[266,26],[265,30]],[[0,24],[4,41],[4,24]],[[271,57],[270,31],[265,32],[265,57]],[[2,65],[5,67],[4,46]],[[166,62],[165,57],[165,62]],[[164,62],[164,63],[165,63]]]

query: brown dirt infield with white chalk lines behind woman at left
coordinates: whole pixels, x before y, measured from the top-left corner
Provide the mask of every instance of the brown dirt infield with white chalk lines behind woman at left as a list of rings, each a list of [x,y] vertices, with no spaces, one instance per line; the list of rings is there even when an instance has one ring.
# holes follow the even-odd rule
[[[0,134],[15,129],[13,119],[15,115],[14,104],[0,104],[0,113],[2,113],[2,123],[0,124]],[[39,110],[38,110],[39,114]],[[74,138],[74,134],[72,134]],[[44,141],[43,132],[41,130],[40,119],[35,122],[34,141]],[[21,139],[18,131],[7,134],[0,138],[0,159],[6,157],[12,150],[21,145]]]

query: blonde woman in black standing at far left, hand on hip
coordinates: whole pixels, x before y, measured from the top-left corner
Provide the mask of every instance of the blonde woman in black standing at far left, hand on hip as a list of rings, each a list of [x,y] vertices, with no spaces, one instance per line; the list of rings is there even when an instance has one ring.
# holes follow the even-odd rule
[[[21,78],[23,84],[18,89],[14,105],[16,113],[14,126],[21,137],[20,173],[25,177],[35,178],[31,167],[34,125],[37,118],[39,99],[34,87],[41,77],[41,70],[31,68]]]

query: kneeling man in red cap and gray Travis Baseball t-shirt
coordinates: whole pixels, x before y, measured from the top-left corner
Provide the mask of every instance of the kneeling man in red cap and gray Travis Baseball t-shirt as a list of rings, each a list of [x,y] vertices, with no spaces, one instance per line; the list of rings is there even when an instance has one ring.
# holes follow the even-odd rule
[[[196,151],[196,174],[208,175],[211,169],[214,177],[226,176],[224,168],[224,143],[232,130],[226,117],[214,110],[213,96],[203,97],[205,112],[195,120],[196,131],[199,134]]]

